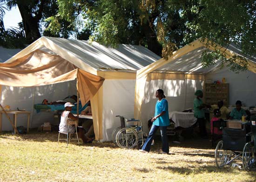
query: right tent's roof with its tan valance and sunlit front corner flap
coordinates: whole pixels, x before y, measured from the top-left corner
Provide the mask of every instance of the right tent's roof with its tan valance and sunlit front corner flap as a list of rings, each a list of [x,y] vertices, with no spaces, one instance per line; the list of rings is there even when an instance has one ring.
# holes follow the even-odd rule
[[[243,56],[241,50],[233,44],[230,44],[228,47],[210,44],[209,47],[206,47],[202,39],[199,38],[191,44],[173,52],[173,55],[169,56],[168,60],[162,58],[138,70],[135,87],[135,118],[141,119],[141,105],[148,94],[145,94],[145,90],[148,90],[147,82],[152,80],[185,80],[184,85],[187,88],[188,79],[203,81],[205,75],[215,71],[221,66],[221,61],[216,60],[215,65],[209,68],[202,68],[202,52],[204,50],[214,51],[215,48],[222,51],[227,58],[235,54]],[[245,58],[249,64],[248,69],[256,73],[256,59],[248,56],[245,56]],[[186,92],[187,91],[185,91],[185,103],[187,97]]]

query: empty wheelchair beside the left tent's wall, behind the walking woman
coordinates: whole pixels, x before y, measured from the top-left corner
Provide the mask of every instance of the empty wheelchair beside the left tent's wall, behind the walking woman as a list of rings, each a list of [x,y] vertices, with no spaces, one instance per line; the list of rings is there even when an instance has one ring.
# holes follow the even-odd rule
[[[138,119],[120,117],[121,126],[112,132],[112,140],[120,148],[132,149],[136,145],[140,148],[144,144],[147,134],[142,130],[142,122]]]

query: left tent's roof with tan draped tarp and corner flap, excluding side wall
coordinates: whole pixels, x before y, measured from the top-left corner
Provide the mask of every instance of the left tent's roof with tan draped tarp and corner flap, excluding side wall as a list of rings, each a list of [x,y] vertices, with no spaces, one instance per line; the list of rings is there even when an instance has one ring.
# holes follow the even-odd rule
[[[96,42],[41,37],[0,64],[0,85],[41,86],[77,79],[82,104],[91,100],[95,139],[102,139],[104,79],[134,79],[160,57],[136,45],[110,48]]]

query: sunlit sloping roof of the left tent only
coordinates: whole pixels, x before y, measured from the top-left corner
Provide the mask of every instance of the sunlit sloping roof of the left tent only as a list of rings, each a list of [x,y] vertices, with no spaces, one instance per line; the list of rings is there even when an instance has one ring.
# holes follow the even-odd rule
[[[41,37],[6,63],[13,62],[35,50],[58,55],[77,68],[92,74],[100,70],[136,71],[160,58],[147,48],[138,45],[119,44],[115,49],[84,40]]]

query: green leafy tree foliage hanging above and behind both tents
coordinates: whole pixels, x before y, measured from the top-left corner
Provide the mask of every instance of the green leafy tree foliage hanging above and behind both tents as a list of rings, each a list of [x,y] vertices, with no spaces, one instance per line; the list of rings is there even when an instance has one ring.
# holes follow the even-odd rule
[[[75,22],[74,12],[79,10],[91,39],[101,44],[139,44],[167,58],[202,37],[209,40],[206,45],[233,43],[245,56],[256,54],[255,0],[58,0],[58,4],[58,16],[69,22]],[[247,69],[243,56],[227,59],[218,49],[205,51],[202,65],[215,64],[216,59],[234,71]]]

